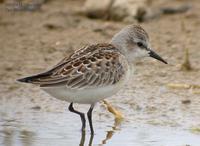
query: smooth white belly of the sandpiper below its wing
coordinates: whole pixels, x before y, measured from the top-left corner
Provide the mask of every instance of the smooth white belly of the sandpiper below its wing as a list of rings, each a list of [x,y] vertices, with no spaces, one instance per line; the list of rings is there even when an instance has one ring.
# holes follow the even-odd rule
[[[94,87],[87,89],[68,89],[61,87],[43,87],[42,89],[53,97],[74,103],[92,104],[104,98],[112,96],[123,87],[122,83],[105,87]]]

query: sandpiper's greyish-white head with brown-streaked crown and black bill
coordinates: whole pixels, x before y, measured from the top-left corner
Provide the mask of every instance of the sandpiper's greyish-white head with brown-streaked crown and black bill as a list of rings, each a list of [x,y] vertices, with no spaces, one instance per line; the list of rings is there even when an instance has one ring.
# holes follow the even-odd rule
[[[120,49],[129,62],[144,57],[153,57],[167,64],[164,59],[151,49],[147,32],[138,25],[129,25],[123,28],[114,35],[111,43]]]

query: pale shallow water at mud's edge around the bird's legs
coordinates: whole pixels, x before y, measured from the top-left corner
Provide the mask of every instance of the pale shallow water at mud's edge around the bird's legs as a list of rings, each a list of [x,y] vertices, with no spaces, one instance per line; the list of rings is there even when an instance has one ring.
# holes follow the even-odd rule
[[[8,114],[9,113],[9,114]],[[18,114],[18,116],[16,116]],[[128,120],[115,121],[94,112],[95,135],[80,131],[77,115],[68,111],[24,113],[1,112],[0,145],[2,146],[199,146],[200,135],[181,127],[157,126]],[[2,116],[4,115],[4,116]]]

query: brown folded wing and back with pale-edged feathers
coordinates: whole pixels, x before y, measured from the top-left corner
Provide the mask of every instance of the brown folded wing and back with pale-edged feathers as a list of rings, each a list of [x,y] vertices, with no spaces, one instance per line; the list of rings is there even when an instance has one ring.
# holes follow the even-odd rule
[[[83,89],[115,84],[125,74],[124,56],[114,46],[98,44],[78,52],[50,71],[39,74],[32,83],[41,87]]]

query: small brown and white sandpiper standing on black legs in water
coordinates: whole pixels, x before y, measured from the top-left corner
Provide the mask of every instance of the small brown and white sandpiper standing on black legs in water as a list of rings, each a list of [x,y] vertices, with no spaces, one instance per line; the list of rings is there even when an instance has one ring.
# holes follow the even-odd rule
[[[92,111],[97,102],[116,94],[131,78],[134,62],[152,57],[167,62],[155,53],[148,33],[130,24],[116,33],[108,43],[96,43],[74,51],[48,71],[18,79],[39,86],[51,96],[69,102],[69,111],[80,116],[82,131],[85,114],[73,104],[89,104],[87,112],[91,134],[94,134]]]

